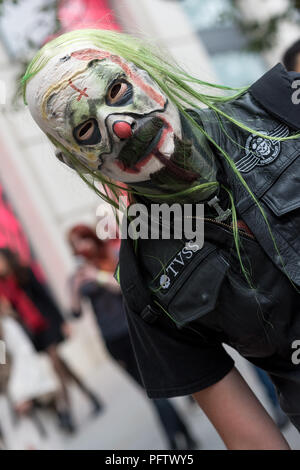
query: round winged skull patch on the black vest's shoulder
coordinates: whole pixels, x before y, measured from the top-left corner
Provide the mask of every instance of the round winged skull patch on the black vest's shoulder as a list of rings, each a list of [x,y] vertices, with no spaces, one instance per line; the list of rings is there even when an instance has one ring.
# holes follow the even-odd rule
[[[266,134],[265,131],[258,132]],[[289,128],[284,124],[280,124],[267,135],[270,137],[287,137],[289,135]],[[246,155],[236,164],[237,169],[241,173],[247,173],[256,166],[264,166],[272,163],[280,154],[281,142],[251,134],[246,140],[245,149]]]

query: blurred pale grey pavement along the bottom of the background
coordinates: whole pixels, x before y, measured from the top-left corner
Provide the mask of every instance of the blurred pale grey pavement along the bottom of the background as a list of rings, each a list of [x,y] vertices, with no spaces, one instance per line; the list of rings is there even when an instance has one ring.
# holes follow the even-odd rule
[[[90,404],[75,387],[70,395],[77,430],[72,435],[62,432],[55,417],[39,411],[46,430],[41,437],[29,418],[14,423],[5,397],[0,396],[0,422],[8,449],[65,449],[65,450],[165,450],[166,441],[145,393],[106,354],[99,341],[97,328],[90,313],[73,326],[73,339],[62,348],[62,355],[104,402],[103,411],[93,416]],[[235,351],[236,365],[245,379],[271,413],[268,399],[249,363]],[[172,403],[189,425],[199,449],[224,449],[201,409],[186,397],[174,398]],[[292,449],[300,450],[300,436],[292,425],[284,431]]]

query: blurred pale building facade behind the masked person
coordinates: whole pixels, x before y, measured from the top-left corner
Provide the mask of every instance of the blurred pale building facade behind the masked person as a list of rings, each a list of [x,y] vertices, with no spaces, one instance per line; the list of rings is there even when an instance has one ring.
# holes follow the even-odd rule
[[[241,0],[241,9],[245,15],[268,15],[284,4],[285,0]],[[251,54],[245,52],[246,40],[230,20],[222,26],[219,23],[220,14],[229,7],[228,0],[105,0],[105,6],[113,9],[121,29],[158,43],[191,74],[232,86],[257,79],[300,36],[299,31],[283,24],[282,40],[271,52]],[[19,15],[19,22],[21,18]],[[50,286],[59,302],[67,306],[65,287],[73,259],[66,230],[79,222],[95,224],[101,201],[71,170],[57,163],[28,110],[10,106],[18,67],[9,27],[2,25],[0,33],[0,80],[7,92],[6,103],[0,100],[0,183]]]

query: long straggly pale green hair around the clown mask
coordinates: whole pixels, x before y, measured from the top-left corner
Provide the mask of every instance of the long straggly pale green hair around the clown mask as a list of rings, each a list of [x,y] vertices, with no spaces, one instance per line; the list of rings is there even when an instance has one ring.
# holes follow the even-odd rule
[[[256,134],[271,140],[288,140],[299,137],[293,135],[289,137],[279,138],[272,137],[262,134],[254,129],[251,129],[242,122],[239,122],[234,117],[228,115],[219,107],[220,104],[233,100],[240,96],[247,90],[244,88],[231,88],[227,86],[212,84],[198,78],[191,76],[179,65],[168,59],[165,51],[161,51],[153,45],[149,45],[144,40],[122,34],[114,31],[106,31],[100,29],[81,29],[63,34],[49,43],[45,44],[32,59],[25,75],[22,78],[23,97],[26,103],[26,85],[27,82],[34,77],[40,70],[42,70],[48,61],[59,54],[60,51],[65,51],[66,46],[71,44],[78,44],[82,46],[84,42],[95,45],[97,48],[107,50],[112,54],[123,57],[128,62],[134,63],[138,68],[144,69],[148,72],[150,77],[157,83],[164,94],[170,101],[178,108],[178,110],[190,121],[192,126],[204,135],[208,141],[223,155],[228,165],[232,168],[232,171],[239,179],[241,184],[246,188],[250,196],[253,198],[257,206],[259,207],[262,216],[267,224],[268,230],[271,234],[273,243],[276,247],[275,240],[273,238],[269,223],[261,208],[255,195],[248,187],[246,181],[237,170],[230,155],[222,149],[217,142],[205,131],[205,129],[193,118],[193,116],[186,111],[189,109],[197,109],[199,107],[208,107],[215,111],[219,118],[226,118],[232,125],[237,126],[249,133]],[[75,155],[68,151],[60,142],[58,142],[53,136],[48,135],[54,146],[65,155],[69,162],[71,162],[74,169],[78,172],[80,177],[105,201],[112,204],[114,207],[118,207],[117,201],[121,194],[124,194],[124,185],[112,181],[110,178],[105,177],[99,170],[90,170],[84,163],[78,160]],[[157,200],[163,200],[167,202],[172,200],[174,196],[184,197],[190,195],[194,191],[206,190],[207,188],[217,189],[219,183],[217,181],[209,181],[203,184],[195,184],[180,192],[174,192],[171,194],[172,188],[170,188],[170,194],[156,194],[148,195],[143,194],[144,197],[151,196]],[[238,257],[241,262],[242,270],[247,279],[249,279],[247,270],[244,268],[241,255],[240,255],[240,243],[239,243],[239,231],[237,226],[237,214],[235,210],[235,201],[230,188],[225,188],[229,194],[232,209],[232,227],[235,246],[237,249]],[[137,194],[135,190],[128,187],[126,191],[131,194],[131,198]],[[276,247],[277,250],[277,247]],[[278,250],[277,250],[278,252]],[[278,253],[279,254],[279,253]],[[280,255],[280,254],[279,254]],[[283,263],[283,262],[282,262]]]

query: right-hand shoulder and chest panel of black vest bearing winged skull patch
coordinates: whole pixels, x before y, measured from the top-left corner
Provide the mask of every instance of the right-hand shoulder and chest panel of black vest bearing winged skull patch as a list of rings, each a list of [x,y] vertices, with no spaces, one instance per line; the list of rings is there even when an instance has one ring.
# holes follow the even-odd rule
[[[300,104],[296,104],[296,90],[292,84],[299,78],[299,74],[287,72],[278,64],[248,92],[222,105],[221,110],[248,127],[272,136],[287,137],[298,133]],[[211,110],[198,114],[205,130],[227,151],[259,201],[278,251],[257,204],[220,156],[224,170],[222,178],[225,176],[225,184],[233,191],[239,216],[272,261],[299,286],[300,138],[270,141],[249,134],[228,119],[218,119]]]

